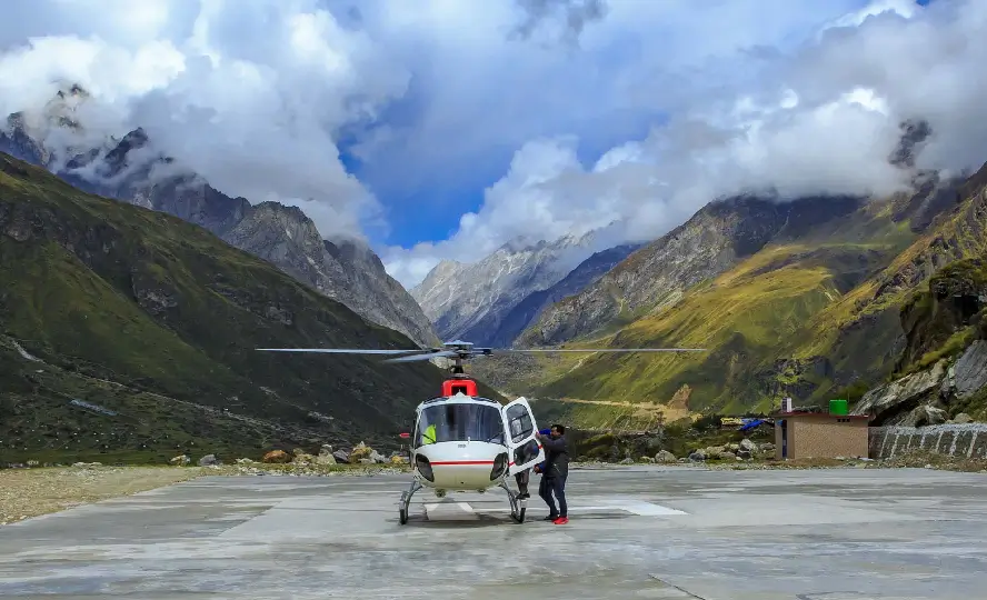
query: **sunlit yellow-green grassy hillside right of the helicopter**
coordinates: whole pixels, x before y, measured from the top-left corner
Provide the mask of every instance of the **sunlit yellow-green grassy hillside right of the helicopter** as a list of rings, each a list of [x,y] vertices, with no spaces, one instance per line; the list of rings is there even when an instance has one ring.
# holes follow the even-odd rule
[[[609,340],[615,347],[680,346],[708,352],[601,354],[535,394],[668,402],[687,384],[686,406],[694,411],[770,410],[782,392],[811,391],[816,374],[810,361],[777,364],[790,356],[779,349],[811,344],[805,326],[847,291],[840,279],[851,270],[876,269],[886,257],[851,246],[767,248]]]

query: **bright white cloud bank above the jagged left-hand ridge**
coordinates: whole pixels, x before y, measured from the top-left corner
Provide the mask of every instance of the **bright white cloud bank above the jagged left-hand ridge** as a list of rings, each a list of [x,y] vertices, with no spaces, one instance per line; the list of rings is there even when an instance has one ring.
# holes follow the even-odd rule
[[[91,138],[77,144],[143,127],[156,148],[230,196],[308,207],[323,236],[380,221],[336,138],[402,94],[408,73],[317,2],[31,0],[12,9],[22,20],[20,30],[0,27],[0,113],[37,110],[78,83],[91,99],[74,118]]]

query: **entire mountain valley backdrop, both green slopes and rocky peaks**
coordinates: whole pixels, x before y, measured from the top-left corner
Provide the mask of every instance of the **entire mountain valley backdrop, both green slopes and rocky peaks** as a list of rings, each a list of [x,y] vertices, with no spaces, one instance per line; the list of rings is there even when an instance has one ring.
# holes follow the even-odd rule
[[[0,356],[11,391],[2,406],[20,416],[6,434],[8,449],[20,447],[19,454],[37,454],[37,444],[67,450],[80,431],[99,429],[106,414],[96,417],[78,403],[66,408],[86,398],[116,407],[107,410],[121,422],[123,414],[142,417],[126,432],[97,434],[78,451],[129,446],[124,453],[161,460],[171,448],[207,439],[232,453],[313,446],[319,439],[353,443],[363,437],[388,447],[393,440],[382,431],[407,429],[410,408],[433,393],[442,377],[427,366],[401,368],[407,370],[395,379],[387,367],[350,358],[333,359],[340,370],[327,366],[319,376],[308,371],[316,359],[296,358],[290,377],[275,377],[270,364],[287,368],[286,359],[248,360],[223,346],[236,340],[247,348],[259,336],[270,339],[272,327],[309,346],[413,348],[463,338],[517,349],[706,349],[499,353],[469,367],[489,394],[532,399],[539,419],[612,431],[651,430],[711,414],[765,414],[785,397],[799,406],[833,397],[856,404],[895,378],[955,361],[979,339],[970,319],[979,318],[987,291],[978,262],[987,252],[985,169],[949,178],[914,171],[909,190],[887,197],[715,199],[658,239],[610,248],[602,230],[557,240],[518,238],[475,263],[442,261],[405,291],[362,242],[321,239],[297,208],[232,199],[195,172],[152,178],[151,171],[170,159],[156,154],[141,130],[103,150],[62,157],[57,167],[26,121],[14,114],[8,126],[0,146],[58,176],[42,177],[4,159],[2,268],[11,284],[0,297],[7,309]],[[889,160],[911,169],[908,157],[929,133],[903,126],[898,152]],[[83,167],[116,183],[86,179],[78,174]],[[113,208],[107,214],[122,220],[110,224],[100,211],[117,204],[92,209],[96,197],[88,193],[138,212],[131,217]],[[11,203],[13,198],[20,203]],[[61,222],[64,216],[51,207],[71,207],[67,214],[74,220]],[[28,222],[33,232],[24,229]],[[140,236],[121,233],[122,223]],[[144,228],[178,229],[138,239]],[[186,241],[187,233],[201,240],[198,246]],[[112,258],[113,244],[124,239],[128,252],[136,251],[133,264]],[[231,254],[230,248],[241,253]],[[223,262],[203,261],[206,256]],[[277,278],[263,270],[268,266],[279,271]],[[959,317],[944,318],[924,291],[947,273],[959,273],[957,284],[973,299],[973,308]],[[317,298],[336,302],[332,319],[318,312],[327,309],[317,309],[302,326],[296,311],[306,312],[296,303],[322,302]],[[229,341],[206,334],[205,311],[225,323]],[[131,341],[111,341],[121,332]],[[30,372],[36,364],[22,350],[42,357],[44,368]],[[355,364],[369,369],[369,379],[355,377]],[[356,402],[343,409],[346,418],[337,417],[336,398]],[[957,407],[979,416],[976,398],[968,396]],[[903,402],[908,410],[914,404]],[[36,410],[41,406],[44,410]],[[49,411],[59,414],[53,421],[59,427],[76,424],[52,429],[51,419],[39,417]],[[80,419],[86,424],[78,424]],[[44,433],[31,440],[27,431]]]

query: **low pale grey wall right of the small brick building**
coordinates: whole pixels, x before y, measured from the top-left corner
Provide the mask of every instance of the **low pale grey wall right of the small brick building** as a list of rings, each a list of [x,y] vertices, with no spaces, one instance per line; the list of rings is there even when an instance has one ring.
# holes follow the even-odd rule
[[[987,458],[987,423],[871,427],[869,456],[889,459],[911,450],[956,458]]]

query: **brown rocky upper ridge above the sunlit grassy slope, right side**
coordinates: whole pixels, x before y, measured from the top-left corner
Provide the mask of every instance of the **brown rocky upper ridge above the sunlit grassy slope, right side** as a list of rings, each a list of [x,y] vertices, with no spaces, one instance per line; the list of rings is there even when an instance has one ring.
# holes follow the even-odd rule
[[[956,180],[915,169],[915,154],[931,134],[923,120],[900,126],[888,162],[910,172],[914,192],[895,199],[886,217],[907,221],[917,233],[955,201]],[[851,198],[799,198],[790,202],[736,197],[700,209],[691,219],[620,262],[595,284],[545,310],[518,340],[521,346],[557,344],[614,331],[681,299],[685,290],[725,272],[776,238],[797,238],[855,208]],[[850,222],[855,222],[854,219]],[[863,222],[880,227],[864,218]],[[827,230],[828,231],[828,230]],[[857,239],[874,231],[861,230]],[[818,238],[818,236],[817,236]]]

